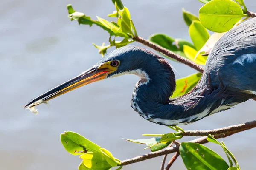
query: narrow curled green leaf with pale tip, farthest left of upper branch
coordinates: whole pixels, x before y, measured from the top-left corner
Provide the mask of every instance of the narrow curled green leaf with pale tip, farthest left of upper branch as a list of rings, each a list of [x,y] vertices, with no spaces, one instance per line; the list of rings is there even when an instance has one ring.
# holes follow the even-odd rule
[[[76,20],[78,21],[79,24],[85,24],[85,25],[89,25],[90,27],[95,24],[101,28],[103,28],[104,30],[108,31],[108,33],[110,34],[110,36],[112,35],[116,35],[113,31],[111,31],[111,29],[107,28],[106,26],[102,25],[102,23],[100,23],[99,21],[96,20],[91,20],[91,18],[89,16],[85,16],[84,13],[81,12],[76,12],[71,4],[67,5],[67,10],[68,10],[68,17],[70,18],[70,20]]]

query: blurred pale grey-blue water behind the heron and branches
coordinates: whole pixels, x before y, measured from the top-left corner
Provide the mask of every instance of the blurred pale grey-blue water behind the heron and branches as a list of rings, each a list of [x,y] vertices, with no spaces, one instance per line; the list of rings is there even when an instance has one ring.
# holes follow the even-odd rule
[[[198,9],[203,6],[197,0],[122,1],[130,10],[141,37],[147,39],[151,34],[161,32],[190,42],[182,8],[198,15]],[[249,11],[256,11],[255,0],[244,1]],[[146,121],[131,108],[131,94],[139,80],[134,75],[107,79],[71,91],[51,100],[49,108],[38,106],[38,115],[23,108],[38,95],[80,74],[101,58],[92,42],[96,45],[108,42],[108,33],[95,25],[89,28],[79,26],[76,21],[70,22],[66,9],[69,3],[76,11],[93,19],[96,15],[106,19],[107,14],[115,10],[111,0],[8,0],[1,3],[1,170],[76,170],[81,159],[67,153],[60,142],[59,136],[65,130],[80,133],[121,160],[150,151],[143,150],[145,145],[121,138],[145,139],[141,134],[171,131]],[[188,66],[168,61],[177,70],[176,78],[196,72]],[[250,100],[181,127],[209,130],[255,118],[255,101]],[[236,156],[241,169],[253,168],[255,133],[256,129],[252,129],[222,139]],[[194,138],[184,137],[181,141],[191,139]],[[227,160],[220,146],[206,146]],[[157,157],[123,169],[160,169],[161,161],[162,157]],[[181,157],[172,169],[186,169]]]

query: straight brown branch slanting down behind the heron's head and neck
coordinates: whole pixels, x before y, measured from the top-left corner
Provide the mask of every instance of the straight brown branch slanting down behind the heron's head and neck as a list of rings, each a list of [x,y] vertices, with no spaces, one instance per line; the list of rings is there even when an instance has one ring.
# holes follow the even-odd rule
[[[154,44],[154,43],[152,43],[148,40],[145,40],[142,37],[139,37],[139,36],[134,37],[134,40],[137,41],[137,42],[140,42],[140,43],[142,43],[142,44],[144,44],[144,45],[146,45],[150,48],[153,48],[154,50],[156,50],[156,51],[158,51],[158,52],[160,52],[160,53],[162,53],[162,54],[164,54],[168,57],[171,57],[171,58],[177,60],[178,62],[181,62],[185,65],[188,65],[189,67],[194,68],[195,70],[197,70],[201,73],[203,73],[203,71],[204,71],[204,68],[201,65],[198,65],[195,62],[190,61],[189,59],[186,59],[186,58],[184,58],[184,57],[182,57],[178,54],[175,54],[172,51],[167,50],[166,48],[163,48],[163,47],[161,47],[157,44]]]

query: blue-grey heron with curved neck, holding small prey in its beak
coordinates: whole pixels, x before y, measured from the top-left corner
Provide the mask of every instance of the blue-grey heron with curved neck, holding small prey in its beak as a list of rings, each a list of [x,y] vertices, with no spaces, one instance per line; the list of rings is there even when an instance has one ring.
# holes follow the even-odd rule
[[[186,125],[256,97],[256,18],[232,28],[209,52],[204,73],[187,94],[170,98],[175,74],[163,57],[145,48],[125,46],[106,54],[92,68],[38,96],[33,107],[92,82],[135,74],[140,77],[131,107],[160,125]]]

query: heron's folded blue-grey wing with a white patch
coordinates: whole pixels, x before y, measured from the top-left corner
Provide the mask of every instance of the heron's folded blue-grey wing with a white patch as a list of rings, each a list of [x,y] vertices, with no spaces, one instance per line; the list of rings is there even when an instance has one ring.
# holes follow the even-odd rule
[[[209,53],[204,75],[212,84],[256,91],[256,18],[234,27],[221,37]]]

